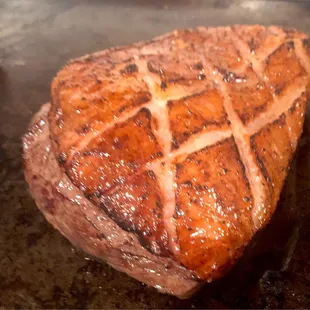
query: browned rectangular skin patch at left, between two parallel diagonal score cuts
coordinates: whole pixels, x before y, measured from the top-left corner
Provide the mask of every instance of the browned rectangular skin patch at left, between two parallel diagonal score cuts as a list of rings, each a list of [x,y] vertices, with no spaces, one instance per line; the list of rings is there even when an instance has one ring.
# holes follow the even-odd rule
[[[161,156],[151,131],[151,114],[143,109],[91,141],[66,164],[66,172],[87,195],[101,195]]]

